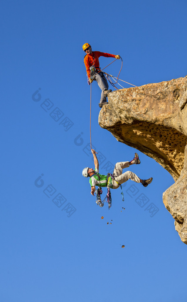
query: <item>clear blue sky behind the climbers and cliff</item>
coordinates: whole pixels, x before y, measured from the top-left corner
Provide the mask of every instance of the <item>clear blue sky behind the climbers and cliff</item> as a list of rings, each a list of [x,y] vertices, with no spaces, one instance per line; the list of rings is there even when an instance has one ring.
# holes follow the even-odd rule
[[[82,177],[93,167],[82,45],[120,54],[120,78],[137,86],[184,77],[186,8],[186,1],[2,3],[3,302],[184,300],[186,245],[162,202],[171,175],[138,152],[141,164],[130,170],[153,182],[126,182],[124,202],[113,190],[110,210],[97,206]],[[100,58],[102,67],[111,62]],[[106,71],[117,76],[119,69],[116,61]],[[92,144],[105,174],[137,150],[100,128],[94,84]]]

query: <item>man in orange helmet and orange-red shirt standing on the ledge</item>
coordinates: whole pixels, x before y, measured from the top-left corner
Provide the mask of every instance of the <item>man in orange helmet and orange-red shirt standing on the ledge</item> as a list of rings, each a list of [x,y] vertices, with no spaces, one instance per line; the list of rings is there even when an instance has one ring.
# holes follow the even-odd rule
[[[112,55],[110,53],[101,53],[100,51],[92,51],[92,48],[90,44],[85,43],[83,45],[83,50],[86,53],[86,56],[84,57],[84,64],[86,66],[86,71],[87,71],[87,76],[89,79],[89,82],[92,83],[93,81],[97,81],[97,84],[101,88],[101,99],[99,103],[99,107],[102,108],[103,104],[107,103],[107,94],[111,92],[112,90],[109,89],[109,85],[107,82],[107,79],[102,71],[100,71],[99,67],[99,57],[104,56],[104,57],[111,57],[115,59],[120,59],[120,56],[117,55]],[[97,73],[99,72],[99,73]],[[90,75],[91,73],[91,75]],[[89,84],[90,85],[90,84]]]

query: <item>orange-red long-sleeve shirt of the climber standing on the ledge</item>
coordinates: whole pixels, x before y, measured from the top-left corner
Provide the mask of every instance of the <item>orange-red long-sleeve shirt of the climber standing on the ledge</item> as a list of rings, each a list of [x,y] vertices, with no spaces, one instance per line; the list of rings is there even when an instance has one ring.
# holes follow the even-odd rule
[[[86,55],[84,57],[84,64],[86,66],[86,71],[88,78],[90,78],[90,66],[95,65],[96,69],[99,69],[99,57],[104,56],[106,58],[115,58],[115,55],[112,55],[110,53],[101,53],[100,51],[93,51],[90,55]]]

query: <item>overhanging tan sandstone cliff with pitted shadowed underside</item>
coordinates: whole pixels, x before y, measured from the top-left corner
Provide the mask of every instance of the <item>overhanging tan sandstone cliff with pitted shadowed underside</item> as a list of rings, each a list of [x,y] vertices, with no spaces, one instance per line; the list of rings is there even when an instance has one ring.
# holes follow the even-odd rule
[[[187,79],[120,89],[111,92],[108,101],[99,114],[100,126],[154,158],[176,181],[164,193],[164,204],[187,244]]]

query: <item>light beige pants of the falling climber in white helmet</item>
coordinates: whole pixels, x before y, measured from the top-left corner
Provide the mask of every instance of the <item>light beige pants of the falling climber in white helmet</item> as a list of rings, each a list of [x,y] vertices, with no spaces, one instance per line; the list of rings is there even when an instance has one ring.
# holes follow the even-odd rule
[[[117,189],[121,184],[126,182],[128,179],[133,180],[134,182],[140,182],[140,178],[131,171],[122,173],[124,168],[129,167],[129,162],[117,162],[115,164],[113,175],[115,180],[112,179],[112,188]],[[117,183],[118,182],[118,183]]]

